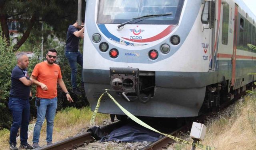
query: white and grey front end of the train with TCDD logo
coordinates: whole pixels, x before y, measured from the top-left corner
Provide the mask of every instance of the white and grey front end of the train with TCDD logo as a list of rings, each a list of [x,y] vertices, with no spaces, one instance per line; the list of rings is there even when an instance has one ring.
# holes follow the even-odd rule
[[[202,0],[87,0],[83,80],[91,109],[110,89],[136,116],[197,116],[206,90],[200,76],[209,70],[202,8]],[[124,114],[108,96],[98,112]]]

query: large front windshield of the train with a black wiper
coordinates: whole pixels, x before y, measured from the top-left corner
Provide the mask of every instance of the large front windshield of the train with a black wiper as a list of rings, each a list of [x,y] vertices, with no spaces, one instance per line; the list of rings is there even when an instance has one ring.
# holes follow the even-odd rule
[[[121,24],[145,15],[171,14],[129,24],[178,24],[183,4],[184,0],[100,0],[97,23]]]

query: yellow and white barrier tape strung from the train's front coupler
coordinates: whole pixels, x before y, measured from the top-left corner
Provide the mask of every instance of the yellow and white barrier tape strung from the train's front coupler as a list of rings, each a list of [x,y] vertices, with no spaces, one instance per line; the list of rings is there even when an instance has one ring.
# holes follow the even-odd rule
[[[141,126],[144,126],[145,128],[148,128],[154,132],[157,132],[159,134],[162,134],[164,136],[167,136],[168,138],[171,138],[177,142],[182,142],[182,143],[185,143],[185,144],[192,144],[202,150],[214,150],[215,148],[214,147],[210,147],[210,146],[204,146],[202,144],[198,144],[198,143],[192,143],[192,142],[188,142],[186,140],[182,140],[180,138],[177,138],[175,136],[171,136],[171,135],[168,135],[168,134],[165,134],[165,133],[162,133],[154,128],[152,128],[151,126],[149,126],[148,124],[146,124],[145,122],[141,121],[140,119],[138,119],[136,116],[134,116],[133,114],[131,114],[130,112],[128,112],[126,109],[124,109],[118,102],[116,102],[116,100],[108,93],[108,90],[105,90],[104,93],[101,94],[100,98],[98,99],[98,103],[96,105],[96,108],[94,110],[94,113],[92,115],[92,118],[90,120],[90,124],[94,124],[94,120],[95,120],[95,116],[96,116],[96,113],[98,112],[98,109],[100,107],[100,100],[102,98],[102,96],[104,94],[108,94],[108,96],[110,97],[110,99],[124,112],[124,114],[126,114],[130,119],[132,119],[133,121],[135,121],[136,123],[140,124]]]

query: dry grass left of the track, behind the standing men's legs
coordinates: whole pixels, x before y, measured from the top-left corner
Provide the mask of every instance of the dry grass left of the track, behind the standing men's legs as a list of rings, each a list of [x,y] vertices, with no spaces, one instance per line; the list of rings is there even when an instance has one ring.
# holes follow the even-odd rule
[[[63,140],[65,138],[74,136],[81,132],[81,129],[85,129],[86,131],[90,126],[90,119],[92,116],[92,111],[90,107],[76,109],[76,108],[66,108],[65,110],[59,111],[54,119],[54,131],[52,142],[57,142]],[[100,114],[96,115],[96,124],[102,123],[103,120],[109,119],[109,115]],[[30,124],[34,124],[36,120],[30,122]],[[28,143],[32,144],[32,134],[34,127],[32,126],[29,129],[28,133]],[[0,150],[8,150],[9,149],[9,136],[10,131],[2,130],[0,131]],[[42,126],[39,144],[40,146],[46,145],[46,120]],[[17,147],[20,145],[20,139],[17,138]]]

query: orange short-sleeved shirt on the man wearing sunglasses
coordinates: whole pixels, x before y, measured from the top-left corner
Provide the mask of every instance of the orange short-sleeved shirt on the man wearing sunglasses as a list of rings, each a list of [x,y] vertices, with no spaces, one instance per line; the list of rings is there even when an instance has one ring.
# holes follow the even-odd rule
[[[36,96],[39,98],[52,99],[57,97],[58,78],[62,78],[60,66],[58,64],[48,65],[46,61],[36,64],[32,75],[36,80],[45,84],[48,90],[42,90],[41,86],[36,87]]]

